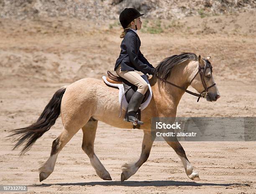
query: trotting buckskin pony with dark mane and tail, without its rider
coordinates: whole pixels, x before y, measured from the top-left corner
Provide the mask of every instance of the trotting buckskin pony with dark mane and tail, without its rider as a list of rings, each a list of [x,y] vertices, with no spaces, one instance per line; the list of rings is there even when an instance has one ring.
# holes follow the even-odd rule
[[[190,92],[191,85],[200,94],[190,92],[207,101],[216,101],[220,97],[212,76],[210,57],[202,59],[193,53],[182,53],[170,56],[156,66],[156,74],[149,79],[153,97],[146,109],[141,111],[143,143],[141,156],[134,163],[122,166],[121,181],[127,180],[147,161],[154,138],[151,134],[152,117],[176,117],[177,106],[184,92]],[[208,87],[207,87],[208,86]],[[89,156],[90,162],[100,178],[112,180],[109,172],[102,165],[94,152],[94,140],[98,121],[117,128],[131,128],[132,124],[121,117],[118,89],[109,87],[102,80],[93,78],[80,79],[57,90],[46,105],[36,123],[10,131],[9,136],[16,136],[13,149],[24,144],[21,155],[28,151],[33,143],[40,138],[61,114],[63,130],[52,143],[49,159],[39,168],[39,179],[43,181],[53,171],[57,156],[61,149],[81,128],[83,132],[82,150]],[[181,159],[187,176],[192,180],[200,180],[198,173],[189,163],[179,141],[166,142],[174,149]]]

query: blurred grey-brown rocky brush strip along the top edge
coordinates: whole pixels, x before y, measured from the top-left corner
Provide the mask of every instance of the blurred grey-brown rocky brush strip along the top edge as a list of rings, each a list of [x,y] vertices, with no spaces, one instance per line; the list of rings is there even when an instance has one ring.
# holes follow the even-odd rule
[[[1,18],[60,17],[82,20],[117,19],[126,7],[145,13],[146,18],[177,19],[195,15],[219,15],[255,10],[255,0],[2,0]]]

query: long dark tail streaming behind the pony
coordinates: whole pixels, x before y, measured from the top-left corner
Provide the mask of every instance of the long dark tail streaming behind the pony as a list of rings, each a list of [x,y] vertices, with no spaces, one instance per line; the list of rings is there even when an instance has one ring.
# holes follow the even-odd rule
[[[25,143],[20,152],[20,156],[27,152],[33,143],[55,124],[55,121],[60,114],[61,99],[65,91],[66,87],[62,87],[55,92],[36,123],[33,123],[26,128],[13,129],[10,131],[11,135],[8,135],[8,137],[18,136],[18,138],[14,140],[16,144],[13,147],[13,150]]]

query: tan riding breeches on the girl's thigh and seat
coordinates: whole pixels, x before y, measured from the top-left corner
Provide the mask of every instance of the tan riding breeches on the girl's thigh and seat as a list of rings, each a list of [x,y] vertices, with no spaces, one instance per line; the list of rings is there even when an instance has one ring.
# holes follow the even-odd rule
[[[116,74],[118,74],[118,76],[123,77],[128,82],[136,85],[138,87],[138,89],[137,89],[138,92],[140,92],[143,95],[146,93],[146,91],[148,89],[148,84],[140,76],[140,74],[137,73],[138,71],[137,72],[136,71],[121,71],[121,65],[119,64],[118,68],[116,69],[115,72],[116,72]]]

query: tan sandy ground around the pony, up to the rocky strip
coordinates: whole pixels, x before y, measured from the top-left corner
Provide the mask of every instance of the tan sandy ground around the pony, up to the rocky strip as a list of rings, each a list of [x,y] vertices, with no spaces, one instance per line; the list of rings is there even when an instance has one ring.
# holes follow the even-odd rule
[[[255,19],[255,15],[251,17]],[[2,20],[1,24],[8,26],[8,21]],[[0,31],[0,185],[28,185],[27,193],[41,194],[256,193],[255,142],[182,142],[200,181],[187,177],[182,162],[167,143],[155,142],[148,161],[128,181],[120,183],[122,164],[140,155],[143,132],[113,128],[101,122],[95,153],[113,181],[103,181],[96,175],[81,149],[80,130],[59,153],[54,172],[40,183],[37,169],[49,157],[51,143],[61,132],[61,119],[21,158],[19,150],[11,151],[12,138],[4,137],[13,128],[33,123],[59,87],[83,77],[100,79],[106,70],[113,70],[121,39],[115,29],[88,28],[81,34],[71,28],[67,33],[40,33],[33,30],[44,25],[12,25],[13,31],[11,27]],[[255,26],[251,28],[255,31]],[[212,56],[220,99],[216,103],[197,103],[196,97],[184,94],[177,116],[256,116],[255,36],[189,31],[139,32],[139,36],[142,53],[154,65],[180,51]]]

